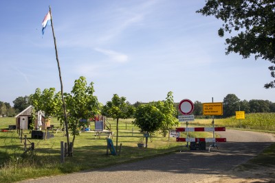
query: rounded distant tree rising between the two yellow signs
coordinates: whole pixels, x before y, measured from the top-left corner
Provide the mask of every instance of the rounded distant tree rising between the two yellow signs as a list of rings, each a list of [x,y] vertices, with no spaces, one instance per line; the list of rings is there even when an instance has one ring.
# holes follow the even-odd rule
[[[223,117],[232,117],[239,110],[240,99],[234,94],[228,94],[223,99]]]

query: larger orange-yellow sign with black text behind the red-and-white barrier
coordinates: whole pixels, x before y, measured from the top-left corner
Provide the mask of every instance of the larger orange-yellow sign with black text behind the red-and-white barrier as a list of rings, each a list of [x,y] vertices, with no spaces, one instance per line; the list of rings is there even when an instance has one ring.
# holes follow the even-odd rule
[[[203,115],[221,116],[223,115],[223,103],[203,103]]]

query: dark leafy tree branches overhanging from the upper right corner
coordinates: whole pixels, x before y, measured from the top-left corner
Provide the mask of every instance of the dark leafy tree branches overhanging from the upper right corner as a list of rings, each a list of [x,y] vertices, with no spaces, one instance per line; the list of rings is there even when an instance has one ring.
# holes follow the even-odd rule
[[[219,36],[225,32],[239,32],[226,38],[228,45],[226,54],[239,53],[243,58],[251,55],[263,58],[275,64],[275,3],[267,0],[208,0],[206,5],[198,10],[205,16],[215,16],[225,24],[219,29]],[[275,77],[275,66],[268,69]],[[274,88],[275,80],[265,84],[265,88]]]

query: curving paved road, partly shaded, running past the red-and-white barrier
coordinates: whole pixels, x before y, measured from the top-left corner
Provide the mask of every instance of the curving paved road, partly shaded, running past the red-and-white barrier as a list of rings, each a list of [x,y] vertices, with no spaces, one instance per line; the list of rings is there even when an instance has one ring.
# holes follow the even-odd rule
[[[184,151],[149,160],[119,164],[96,171],[83,171],[24,182],[198,182],[214,175],[228,175],[236,165],[246,162],[275,142],[274,135],[227,130],[220,132],[227,143],[208,151]],[[256,142],[256,143],[255,143]]]

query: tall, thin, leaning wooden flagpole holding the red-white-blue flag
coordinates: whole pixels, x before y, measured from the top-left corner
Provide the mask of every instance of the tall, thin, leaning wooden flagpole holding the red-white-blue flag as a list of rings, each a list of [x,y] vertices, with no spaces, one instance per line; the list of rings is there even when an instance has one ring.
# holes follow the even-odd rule
[[[50,5],[49,5],[49,9],[50,9],[50,16],[51,16],[52,36],[54,36],[54,23],[52,23],[52,12],[51,12]],[[54,48],[56,49],[56,36],[54,36]],[[67,123],[66,103],[65,103],[64,95],[63,95],[63,83],[62,83],[61,68],[60,68],[60,65],[59,65],[57,49],[56,49],[56,62],[57,62],[58,71],[59,71],[59,79],[60,79],[60,82],[61,82],[61,96],[62,96],[62,102],[63,102],[65,130],[66,130],[66,134],[67,134],[67,145],[68,145],[68,151],[69,151],[69,149],[70,149],[69,148],[69,130],[68,130],[68,123]],[[69,154],[70,153],[71,152],[69,151]]]

